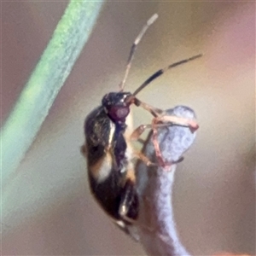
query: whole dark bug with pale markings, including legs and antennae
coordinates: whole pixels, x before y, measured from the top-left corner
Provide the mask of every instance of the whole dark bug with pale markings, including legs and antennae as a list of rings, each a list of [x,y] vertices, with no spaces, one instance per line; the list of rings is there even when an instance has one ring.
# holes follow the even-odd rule
[[[155,14],[148,20],[132,44],[125,69],[125,77],[119,84],[119,92],[110,92],[103,96],[102,105],[89,113],[84,122],[85,143],[81,151],[87,159],[90,190],[103,210],[128,234],[131,234],[129,227],[136,221],[139,214],[133,160],[140,158],[148,165],[154,164],[146,156],[133,150],[130,137],[135,139],[146,128],[156,129],[158,125],[169,125],[170,122],[177,125],[191,126],[185,120],[170,119],[170,117],[165,119],[160,109],[153,108],[137,99],[137,93],[162,73],[165,73],[166,70],[201,56],[195,55],[160,69],[146,79],[135,92],[125,92],[125,81],[131,68],[131,61],[137,49],[137,44],[143,38],[148,26],[154,23],[157,18],[158,15]],[[141,125],[131,134],[131,126],[129,125],[131,104],[152,113],[154,116],[153,126]],[[179,121],[182,121],[181,124],[179,124]],[[155,147],[157,147],[157,143]]]

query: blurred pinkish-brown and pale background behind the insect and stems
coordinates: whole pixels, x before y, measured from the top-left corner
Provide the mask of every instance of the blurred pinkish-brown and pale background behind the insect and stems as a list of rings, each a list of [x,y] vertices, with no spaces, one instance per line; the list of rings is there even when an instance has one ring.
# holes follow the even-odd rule
[[[2,3],[3,122],[66,6]],[[106,3],[38,137],[2,188],[3,255],[143,254],[93,201],[79,147],[84,117],[119,89],[131,44],[154,13],[160,17],[138,46],[127,90],[160,67],[204,54],[139,95],[158,108],[187,105],[201,125],[177,169],[181,240],[195,255],[256,253],[255,3],[191,1]],[[150,121],[133,109],[135,126]]]

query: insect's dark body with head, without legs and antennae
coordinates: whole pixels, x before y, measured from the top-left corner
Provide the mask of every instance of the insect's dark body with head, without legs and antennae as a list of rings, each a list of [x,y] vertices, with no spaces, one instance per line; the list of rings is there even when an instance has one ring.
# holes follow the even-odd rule
[[[84,125],[90,189],[126,232],[126,225],[138,214],[132,150],[125,138],[125,121],[130,112],[130,103],[125,99],[130,95],[120,92],[104,96],[102,106],[89,114]]]

